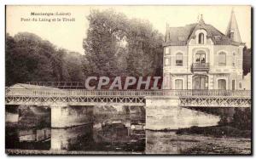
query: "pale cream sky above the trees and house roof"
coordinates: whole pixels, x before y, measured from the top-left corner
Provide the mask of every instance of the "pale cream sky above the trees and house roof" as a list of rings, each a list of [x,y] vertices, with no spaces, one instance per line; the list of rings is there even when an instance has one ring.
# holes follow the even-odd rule
[[[86,17],[91,9],[114,9],[116,12],[124,13],[128,18],[148,20],[154,29],[164,35],[167,23],[169,26],[185,26],[197,22],[200,14],[205,23],[225,33],[231,10],[234,9],[241,40],[251,48],[250,6],[7,6],[6,31],[11,36],[18,32],[32,32],[54,43],[58,48],[84,54],[83,39],[89,28]],[[32,12],[58,14],[31,15]],[[61,13],[67,15],[60,15]],[[33,21],[33,18],[38,21]],[[59,18],[61,21],[49,22],[44,21],[45,18]],[[62,18],[72,21],[63,21]]]

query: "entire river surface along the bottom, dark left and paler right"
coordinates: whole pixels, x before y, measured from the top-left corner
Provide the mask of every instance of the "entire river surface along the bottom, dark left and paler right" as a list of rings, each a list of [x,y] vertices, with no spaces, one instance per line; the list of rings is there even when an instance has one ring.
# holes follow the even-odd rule
[[[250,154],[251,139],[145,130],[144,111],[73,128],[6,126],[8,154]]]

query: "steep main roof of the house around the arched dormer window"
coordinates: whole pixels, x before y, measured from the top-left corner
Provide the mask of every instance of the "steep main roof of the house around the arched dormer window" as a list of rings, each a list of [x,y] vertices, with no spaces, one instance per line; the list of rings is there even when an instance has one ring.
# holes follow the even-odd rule
[[[204,29],[207,31],[207,38],[211,38],[212,42],[216,45],[240,45],[241,42],[235,42],[230,37],[218,31],[214,26],[205,24],[201,19],[198,23],[189,24],[180,27],[167,27],[166,39],[164,46],[173,45],[186,45],[191,38],[195,38],[195,31]]]

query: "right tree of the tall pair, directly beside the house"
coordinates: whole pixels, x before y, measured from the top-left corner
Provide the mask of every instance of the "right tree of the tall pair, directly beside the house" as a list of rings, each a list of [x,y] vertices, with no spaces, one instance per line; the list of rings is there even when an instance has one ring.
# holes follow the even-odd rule
[[[148,21],[129,20],[128,64],[131,76],[162,76],[163,36]],[[159,69],[160,68],[160,69]]]

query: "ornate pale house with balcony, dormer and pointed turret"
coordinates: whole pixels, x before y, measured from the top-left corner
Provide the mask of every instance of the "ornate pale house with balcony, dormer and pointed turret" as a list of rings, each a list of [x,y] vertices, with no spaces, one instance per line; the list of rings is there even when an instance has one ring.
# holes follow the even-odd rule
[[[206,24],[166,28],[164,89],[242,89],[241,37],[232,11],[226,34]]]

